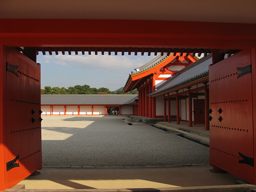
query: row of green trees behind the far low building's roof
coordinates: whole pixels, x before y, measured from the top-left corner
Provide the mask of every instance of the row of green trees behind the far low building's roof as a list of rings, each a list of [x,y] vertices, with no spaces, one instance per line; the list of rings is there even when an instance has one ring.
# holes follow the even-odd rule
[[[114,92],[106,87],[97,89],[94,87],[91,88],[90,85],[75,85],[74,87],[70,86],[68,88],[45,86],[44,89],[41,89],[41,94],[138,94],[138,91],[134,89],[124,93],[123,90]]]

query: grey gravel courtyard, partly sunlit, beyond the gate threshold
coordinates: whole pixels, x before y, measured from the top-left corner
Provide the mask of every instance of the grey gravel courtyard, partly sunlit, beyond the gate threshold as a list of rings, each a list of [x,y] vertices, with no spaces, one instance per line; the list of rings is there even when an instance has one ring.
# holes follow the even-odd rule
[[[209,163],[209,148],[119,116],[44,116],[43,166],[163,166]]]

